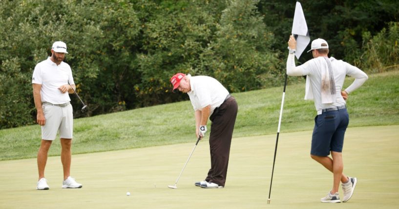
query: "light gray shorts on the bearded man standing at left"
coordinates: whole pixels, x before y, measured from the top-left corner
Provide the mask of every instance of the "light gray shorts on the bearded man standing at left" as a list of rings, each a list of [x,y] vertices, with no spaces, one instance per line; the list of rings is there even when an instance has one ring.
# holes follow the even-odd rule
[[[42,139],[54,140],[57,132],[60,138],[71,139],[73,133],[72,105],[59,107],[43,104],[43,113],[46,123],[42,126]]]

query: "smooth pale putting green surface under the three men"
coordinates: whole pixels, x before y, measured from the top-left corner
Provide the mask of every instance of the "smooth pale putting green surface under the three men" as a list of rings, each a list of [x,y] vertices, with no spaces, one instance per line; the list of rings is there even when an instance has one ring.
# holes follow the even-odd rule
[[[49,157],[50,190],[36,190],[36,159],[0,161],[0,209],[396,209],[399,205],[399,126],[349,128],[344,173],[358,184],[347,203],[320,203],[332,173],[310,158],[311,131],[280,133],[271,204],[267,204],[275,134],[233,138],[226,187],[202,189],[210,167],[209,143],[97,152],[72,156],[71,174],[82,189],[62,189],[60,157]],[[131,193],[126,196],[126,192]],[[340,189],[340,197],[343,192]]]

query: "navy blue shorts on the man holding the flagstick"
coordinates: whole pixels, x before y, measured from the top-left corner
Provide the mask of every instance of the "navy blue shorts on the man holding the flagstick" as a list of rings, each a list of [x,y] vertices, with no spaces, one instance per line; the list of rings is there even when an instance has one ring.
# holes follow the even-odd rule
[[[330,151],[342,152],[344,135],[349,124],[346,109],[324,112],[315,117],[311,154],[328,156]]]

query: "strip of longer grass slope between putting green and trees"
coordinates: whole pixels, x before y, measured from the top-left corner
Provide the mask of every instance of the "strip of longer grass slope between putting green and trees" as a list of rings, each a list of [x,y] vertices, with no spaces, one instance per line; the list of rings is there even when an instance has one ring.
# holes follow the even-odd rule
[[[398,80],[399,71],[371,75],[349,95],[349,126],[399,124]],[[347,78],[345,85],[352,81]],[[233,94],[238,103],[233,137],[276,133],[282,89]],[[315,107],[303,96],[304,82],[287,86],[281,134],[313,128]],[[75,119],[72,149],[73,153],[105,152],[194,142],[194,124],[189,101]],[[0,130],[0,160],[35,157],[40,139],[39,125]],[[60,142],[55,140],[49,155],[60,152]]]

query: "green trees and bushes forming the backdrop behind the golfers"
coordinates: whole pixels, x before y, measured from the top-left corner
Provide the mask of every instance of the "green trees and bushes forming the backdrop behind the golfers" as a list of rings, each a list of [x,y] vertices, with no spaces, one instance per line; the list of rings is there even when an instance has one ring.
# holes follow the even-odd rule
[[[307,0],[302,7],[312,39],[381,72],[398,63],[398,4]],[[75,117],[187,99],[170,92],[177,72],[213,76],[230,92],[281,85],[294,7],[291,0],[1,1],[0,129],[35,122],[31,76],[56,40],[67,44],[65,62],[89,106],[80,113],[70,95]]]

